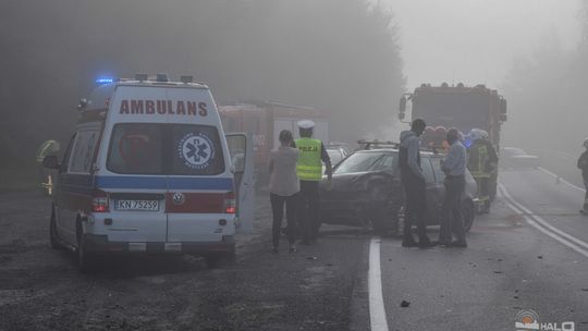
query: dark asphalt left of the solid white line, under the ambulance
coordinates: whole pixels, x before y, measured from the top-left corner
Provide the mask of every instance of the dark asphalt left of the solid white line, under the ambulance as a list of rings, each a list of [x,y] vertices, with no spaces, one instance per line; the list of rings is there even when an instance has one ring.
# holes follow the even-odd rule
[[[268,200],[258,197],[254,234],[237,237],[236,265],[117,258],[85,275],[49,247],[49,199],[0,195],[0,330],[348,330],[369,234],[331,226],[273,255]]]

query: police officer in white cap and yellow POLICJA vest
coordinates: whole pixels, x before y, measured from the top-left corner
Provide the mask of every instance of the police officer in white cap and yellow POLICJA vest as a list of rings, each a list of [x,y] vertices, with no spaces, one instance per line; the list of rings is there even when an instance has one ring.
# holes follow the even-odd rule
[[[322,142],[313,138],[315,122],[302,120],[298,122],[299,139],[294,140],[299,156],[296,173],[301,180],[299,222],[303,231],[302,244],[314,243],[318,236],[319,223],[319,182],[322,177],[322,162],[329,182],[332,176],[331,159]],[[321,162],[322,161],[322,162]],[[330,186],[330,184],[329,184]]]

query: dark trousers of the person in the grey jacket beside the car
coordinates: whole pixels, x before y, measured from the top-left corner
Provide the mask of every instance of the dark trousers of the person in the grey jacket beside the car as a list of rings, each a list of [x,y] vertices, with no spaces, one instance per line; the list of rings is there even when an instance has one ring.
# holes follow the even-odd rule
[[[404,214],[404,236],[412,236],[413,225],[417,226],[419,238],[427,233],[427,192],[425,181],[419,179],[405,179],[403,181],[406,194],[406,212]]]

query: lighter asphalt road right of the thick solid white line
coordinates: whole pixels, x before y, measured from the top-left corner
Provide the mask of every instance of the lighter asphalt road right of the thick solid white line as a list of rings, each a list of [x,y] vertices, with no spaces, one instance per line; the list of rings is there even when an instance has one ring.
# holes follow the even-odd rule
[[[381,240],[388,330],[515,330],[528,309],[539,322],[588,329],[584,193],[543,170],[503,171],[500,181],[501,195],[476,219],[468,248],[407,249]]]

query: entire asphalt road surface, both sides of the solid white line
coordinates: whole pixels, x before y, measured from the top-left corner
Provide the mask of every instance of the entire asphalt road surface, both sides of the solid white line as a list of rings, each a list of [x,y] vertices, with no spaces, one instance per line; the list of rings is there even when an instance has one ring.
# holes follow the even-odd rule
[[[584,193],[541,169],[500,181],[465,249],[403,248],[397,237],[324,226],[318,244],[287,254],[284,243],[272,255],[260,195],[236,265],[117,258],[91,275],[49,247],[47,198],[1,194],[0,330],[516,330],[528,309],[588,329]]]

